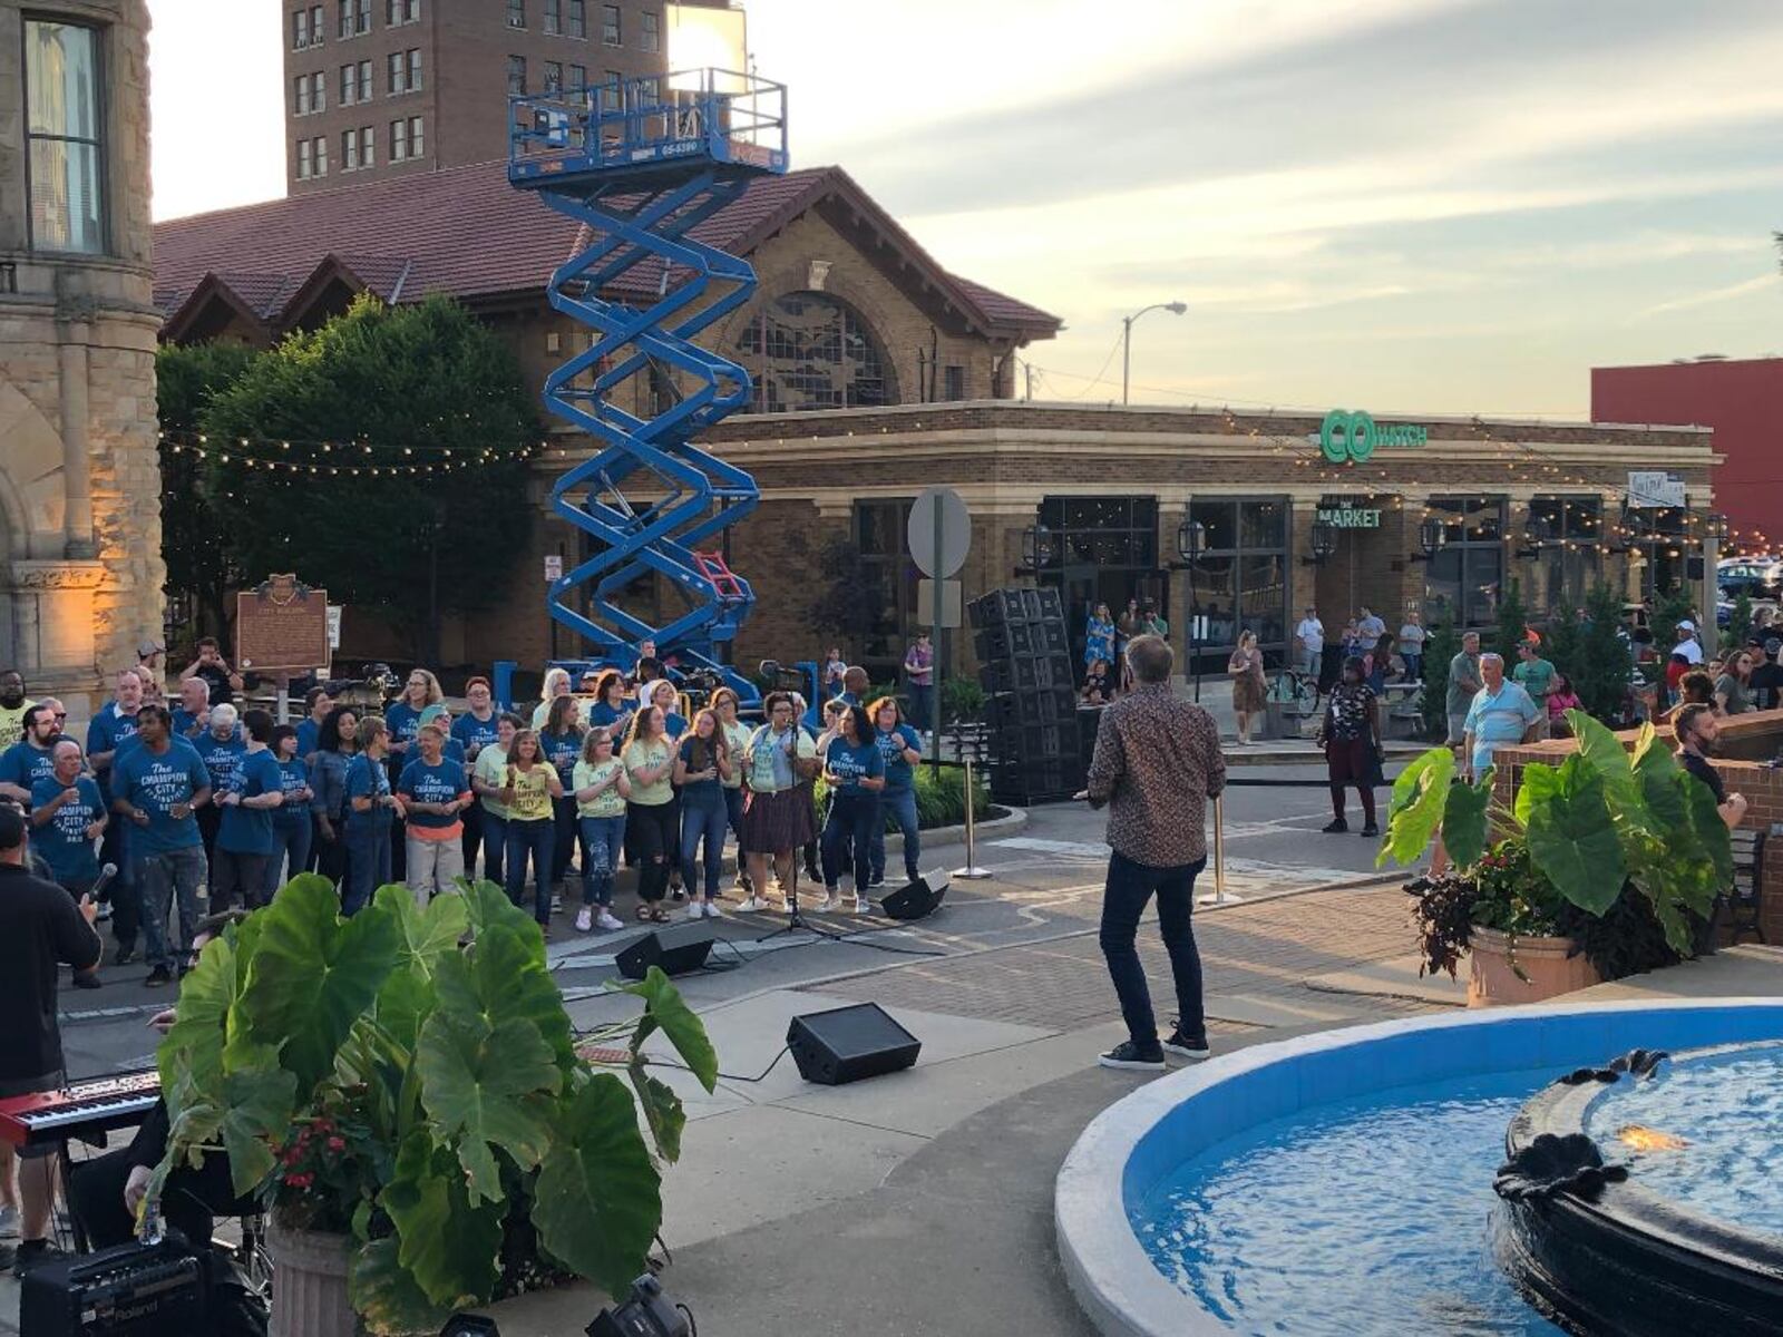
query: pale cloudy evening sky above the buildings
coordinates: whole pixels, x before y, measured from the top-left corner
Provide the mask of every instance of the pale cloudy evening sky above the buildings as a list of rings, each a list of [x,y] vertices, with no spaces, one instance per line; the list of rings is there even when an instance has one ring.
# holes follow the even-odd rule
[[[150,0],[157,217],[283,193],[282,9]],[[1783,353],[1779,0],[747,11],[795,166],[1064,321],[1036,399],[1118,401],[1168,301],[1134,403],[1587,417],[1592,365]]]

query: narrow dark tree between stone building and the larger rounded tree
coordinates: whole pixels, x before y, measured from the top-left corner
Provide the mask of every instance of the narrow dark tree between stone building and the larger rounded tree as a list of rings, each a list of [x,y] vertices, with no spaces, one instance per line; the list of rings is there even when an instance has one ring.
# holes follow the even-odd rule
[[[200,415],[259,357],[244,344],[162,344],[155,353],[155,408],[160,417],[160,556],[168,592],[198,604],[200,624],[221,638],[230,629],[230,588],[241,585],[225,519],[194,451]],[[196,627],[194,627],[196,631]]]

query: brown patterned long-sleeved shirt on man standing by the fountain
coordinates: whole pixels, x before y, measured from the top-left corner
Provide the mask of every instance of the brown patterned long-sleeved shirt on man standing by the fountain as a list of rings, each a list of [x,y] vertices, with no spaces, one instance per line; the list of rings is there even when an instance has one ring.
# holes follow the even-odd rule
[[[1207,857],[1207,800],[1225,788],[1212,715],[1168,683],[1141,683],[1102,711],[1089,802],[1109,806],[1109,845],[1148,868]]]

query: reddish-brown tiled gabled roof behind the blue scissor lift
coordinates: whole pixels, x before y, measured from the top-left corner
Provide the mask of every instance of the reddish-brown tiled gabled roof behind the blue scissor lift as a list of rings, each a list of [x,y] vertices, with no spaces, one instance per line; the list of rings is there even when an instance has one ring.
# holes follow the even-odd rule
[[[1059,330],[1056,316],[949,275],[840,168],[761,176],[694,235],[749,255],[811,209],[877,242],[863,248],[870,258],[883,262],[875,255],[883,248],[908,271],[899,282],[916,282],[918,301],[968,328],[1016,339],[1050,339]],[[175,317],[189,321],[200,296],[239,301],[262,323],[289,326],[301,298],[332,276],[385,301],[446,292],[474,305],[540,292],[551,271],[583,248],[581,232],[530,191],[508,185],[506,162],[476,162],[157,223],[155,301],[169,339],[178,337]],[[660,278],[638,266],[620,278],[615,296],[654,292]]]

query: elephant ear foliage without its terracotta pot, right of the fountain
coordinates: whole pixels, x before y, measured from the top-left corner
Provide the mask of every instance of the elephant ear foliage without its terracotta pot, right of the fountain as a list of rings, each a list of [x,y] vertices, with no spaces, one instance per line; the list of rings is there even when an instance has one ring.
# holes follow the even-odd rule
[[[1453,968],[1466,948],[1467,923],[1480,922],[1462,911],[1469,890],[1478,891],[1492,829],[1528,849],[1533,872],[1560,897],[1557,929],[1578,925],[1580,932],[1565,936],[1590,941],[1594,963],[1599,956],[1637,959],[1623,950],[1626,945],[1605,941],[1598,922],[1615,925],[1612,936],[1626,936],[1651,920],[1672,959],[1689,956],[1696,925],[1733,884],[1733,847],[1713,795],[1678,765],[1651,726],[1640,729],[1630,751],[1583,711],[1567,711],[1567,722],[1578,751],[1558,767],[1523,767],[1510,809],[1492,802],[1492,770],[1467,784],[1455,775],[1455,758],[1442,747],[1425,752],[1394,781],[1376,866],[1417,861],[1441,833],[1457,870],[1453,879],[1414,884],[1426,954],[1437,966]],[[1626,897],[1644,904],[1631,906]],[[1478,911],[1480,902],[1473,907]],[[1446,920],[1437,934],[1442,945],[1430,939],[1432,916]],[[1601,973],[1612,979],[1630,970]]]

